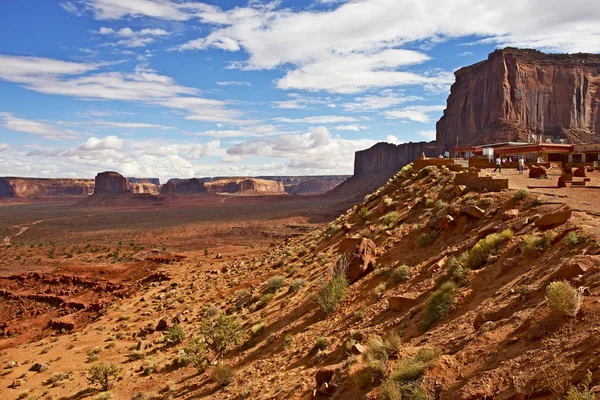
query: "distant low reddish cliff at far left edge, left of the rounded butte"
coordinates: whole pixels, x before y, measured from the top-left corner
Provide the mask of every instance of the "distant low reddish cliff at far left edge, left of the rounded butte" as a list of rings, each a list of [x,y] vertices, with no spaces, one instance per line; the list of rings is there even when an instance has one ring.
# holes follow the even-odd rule
[[[80,197],[93,188],[91,179],[0,178],[0,197]]]

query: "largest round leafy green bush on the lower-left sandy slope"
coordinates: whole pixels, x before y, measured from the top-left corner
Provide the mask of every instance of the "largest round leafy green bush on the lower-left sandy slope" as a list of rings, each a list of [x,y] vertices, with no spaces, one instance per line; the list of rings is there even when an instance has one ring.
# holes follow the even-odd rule
[[[222,359],[229,347],[239,343],[243,332],[233,317],[220,315],[200,324],[200,334],[217,359]]]

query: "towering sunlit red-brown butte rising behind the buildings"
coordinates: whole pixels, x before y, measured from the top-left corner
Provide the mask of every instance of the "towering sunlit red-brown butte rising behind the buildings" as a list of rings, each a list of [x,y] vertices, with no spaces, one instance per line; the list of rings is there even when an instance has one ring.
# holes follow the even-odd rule
[[[529,134],[600,141],[599,55],[508,48],[455,75],[437,123],[437,153]]]

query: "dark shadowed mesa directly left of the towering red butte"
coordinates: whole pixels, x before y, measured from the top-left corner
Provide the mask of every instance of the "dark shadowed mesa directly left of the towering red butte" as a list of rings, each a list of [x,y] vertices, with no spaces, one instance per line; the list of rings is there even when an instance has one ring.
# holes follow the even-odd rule
[[[435,156],[435,142],[377,143],[370,149],[357,151],[354,156],[354,176],[374,175],[389,172],[390,176],[425,153]]]

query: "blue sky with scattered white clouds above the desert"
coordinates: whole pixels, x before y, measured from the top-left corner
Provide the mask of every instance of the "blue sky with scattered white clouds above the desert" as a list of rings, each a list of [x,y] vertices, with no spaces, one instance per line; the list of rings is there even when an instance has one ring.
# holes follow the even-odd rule
[[[505,46],[600,53],[597,0],[0,0],[0,176],[351,174]]]

